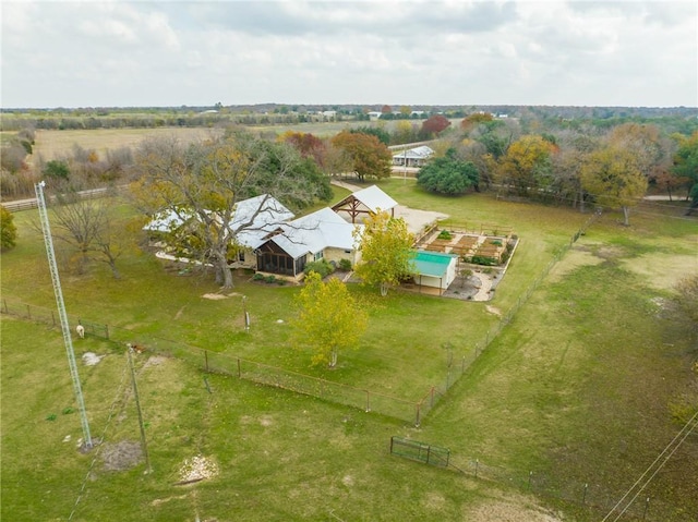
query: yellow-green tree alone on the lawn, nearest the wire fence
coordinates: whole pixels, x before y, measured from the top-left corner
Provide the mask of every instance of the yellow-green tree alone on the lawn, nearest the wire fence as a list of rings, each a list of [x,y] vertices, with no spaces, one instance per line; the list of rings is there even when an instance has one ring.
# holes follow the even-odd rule
[[[366,328],[368,315],[347,286],[337,278],[323,282],[317,272],[305,277],[305,286],[297,295],[298,318],[293,321],[293,339],[312,348],[313,364],[337,365],[339,352],[356,349]]]

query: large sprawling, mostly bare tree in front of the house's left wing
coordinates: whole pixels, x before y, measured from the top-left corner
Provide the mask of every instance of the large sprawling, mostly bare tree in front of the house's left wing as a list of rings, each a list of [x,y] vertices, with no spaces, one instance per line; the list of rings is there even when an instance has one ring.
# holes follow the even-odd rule
[[[191,255],[210,263],[216,282],[233,286],[229,250],[243,231],[254,230],[260,214],[273,213],[276,198],[298,210],[332,194],[329,181],[292,146],[233,132],[206,142],[182,145],[173,137],[146,141],[136,154],[141,174],[134,185],[144,211],[180,213],[182,221],[195,216]],[[243,199],[264,195],[248,220],[236,221]],[[258,220],[256,220],[258,222]]]

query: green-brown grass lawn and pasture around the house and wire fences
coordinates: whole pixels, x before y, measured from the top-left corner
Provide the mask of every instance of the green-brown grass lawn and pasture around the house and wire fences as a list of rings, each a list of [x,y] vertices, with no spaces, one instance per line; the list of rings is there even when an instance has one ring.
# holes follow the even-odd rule
[[[486,196],[437,198],[402,180],[382,187],[401,204],[459,222],[514,228],[520,247],[489,303],[502,311],[588,218]],[[21,235],[17,247],[2,254],[2,296],[51,306],[32,215],[15,217]],[[698,397],[695,347],[670,306],[673,284],[698,271],[696,221],[646,208],[631,223],[621,227],[614,215],[595,222],[419,428],[205,375],[177,359],[140,355],[154,469],[146,475],[142,461],[109,471],[104,457],[139,440],[122,347],[94,337],[75,341],[79,356],[104,355],[95,366],[81,364],[93,435],[104,436],[96,450],[81,454],[77,414],[67,410],[74,399],[60,332],[3,315],[0,514],[67,520],[80,497],[72,520],[112,520],[115,513],[164,521],[600,520],[679,429],[672,412],[677,405],[695,411]],[[137,252],[121,271],[120,281],[101,267],[82,277],[63,272],[69,313],[136,338],[176,339],[406,399],[443,380],[446,342],[468,351],[498,320],[485,303],[407,293],[382,300],[375,290],[352,287],[366,302],[370,328],[357,351],[340,354],[340,368],[326,372],[309,368],[309,354],[288,345],[296,288],[239,278],[234,290],[248,296],[253,317],[245,333],[239,296],[202,298],[217,291],[209,280],[166,271]],[[390,457],[393,435],[449,448],[452,463],[468,473]],[[196,454],[215,462],[218,474],[176,485],[184,460]],[[646,491],[652,498],[647,520],[695,520],[697,457],[698,440],[689,437]],[[473,479],[476,460],[480,476],[495,482]],[[642,505],[633,513],[639,519]]]

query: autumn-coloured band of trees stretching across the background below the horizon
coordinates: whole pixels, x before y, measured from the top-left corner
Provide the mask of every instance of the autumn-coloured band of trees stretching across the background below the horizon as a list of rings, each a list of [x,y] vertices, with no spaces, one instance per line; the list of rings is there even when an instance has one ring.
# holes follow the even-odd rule
[[[219,124],[233,116],[255,122],[269,118],[276,122],[298,118],[291,109],[297,108],[263,116],[186,116],[182,111],[167,118],[193,118],[184,123],[206,125]],[[381,109],[396,112],[387,106]],[[594,116],[597,109],[585,111]],[[390,175],[388,146],[434,141],[432,147],[436,154],[432,165],[418,180],[426,190],[444,194],[496,190],[506,197],[569,204],[581,209],[588,204],[605,202],[627,210],[627,204],[641,197],[648,187],[672,197],[688,196],[698,201],[694,137],[698,119],[690,110],[673,112],[682,116],[671,116],[672,110],[666,109],[648,123],[643,116],[636,116],[637,121],[624,121],[631,114],[642,114],[641,109],[628,109],[627,114],[611,111],[603,116],[612,118],[597,121],[567,119],[555,116],[551,108],[529,107],[518,108],[518,117],[474,111],[462,119],[449,119],[435,113],[419,121],[409,118],[360,120],[348,123],[345,131],[333,137],[290,131],[277,135],[269,130],[264,131],[262,137],[288,142],[325,174],[352,173],[361,180]],[[409,107],[400,107],[399,113],[407,116],[411,111]],[[105,121],[119,118],[127,117],[104,117]],[[139,118],[154,122],[159,116]],[[31,126],[5,138],[2,145],[3,197],[32,195],[33,183],[39,177],[49,183],[70,179],[86,187],[116,183],[124,179],[133,163],[129,148],[99,155],[76,144],[63,157],[45,160],[34,155],[29,167],[25,160],[34,146]],[[600,179],[607,182],[599,183]],[[609,181],[611,179],[614,181]],[[613,197],[607,197],[607,192],[614,192]]]

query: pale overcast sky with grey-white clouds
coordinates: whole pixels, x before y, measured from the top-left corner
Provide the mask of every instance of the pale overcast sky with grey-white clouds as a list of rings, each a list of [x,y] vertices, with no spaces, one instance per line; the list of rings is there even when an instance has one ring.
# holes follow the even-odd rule
[[[698,2],[0,0],[0,107],[698,106]]]

